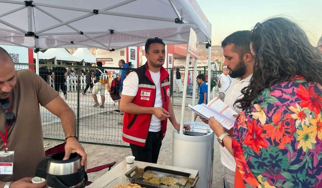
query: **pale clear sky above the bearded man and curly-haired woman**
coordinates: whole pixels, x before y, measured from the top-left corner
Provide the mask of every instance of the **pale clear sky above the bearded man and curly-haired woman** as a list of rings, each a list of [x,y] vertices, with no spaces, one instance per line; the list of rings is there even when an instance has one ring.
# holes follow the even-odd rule
[[[238,30],[283,16],[298,24],[313,46],[322,35],[322,0],[196,0],[212,24],[211,45]]]

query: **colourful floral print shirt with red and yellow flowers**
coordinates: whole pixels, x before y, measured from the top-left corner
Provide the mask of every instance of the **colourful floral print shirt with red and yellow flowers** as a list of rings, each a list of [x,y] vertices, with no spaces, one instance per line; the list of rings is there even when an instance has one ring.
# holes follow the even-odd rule
[[[322,88],[302,77],[241,111],[232,148],[246,187],[322,187]]]

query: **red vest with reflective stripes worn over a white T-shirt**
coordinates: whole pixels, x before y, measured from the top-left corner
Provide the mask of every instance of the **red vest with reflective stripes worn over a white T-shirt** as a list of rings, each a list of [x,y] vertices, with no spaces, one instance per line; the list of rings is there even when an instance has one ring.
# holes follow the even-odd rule
[[[133,103],[144,107],[153,107],[156,95],[156,88],[147,68],[147,63],[135,70],[139,85]],[[169,109],[170,82],[169,73],[163,67],[160,68],[160,86],[163,108]],[[149,130],[152,114],[129,114],[124,113],[123,118],[123,135],[125,142],[144,147],[147,133]],[[167,131],[167,119],[161,121],[162,138],[165,137]]]

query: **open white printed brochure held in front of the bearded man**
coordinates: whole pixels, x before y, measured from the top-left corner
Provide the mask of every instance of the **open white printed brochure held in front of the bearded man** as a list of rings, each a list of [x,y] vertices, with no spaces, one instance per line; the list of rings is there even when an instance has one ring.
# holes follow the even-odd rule
[[[208,120],[213,116],[227,130],[233,127],[236,120],[233,115],[237,115],[237,112],[222,102],[218,97],[212,99],[208,105],[197,104],[196,106],[191,106],[189,104],[188,107]]]

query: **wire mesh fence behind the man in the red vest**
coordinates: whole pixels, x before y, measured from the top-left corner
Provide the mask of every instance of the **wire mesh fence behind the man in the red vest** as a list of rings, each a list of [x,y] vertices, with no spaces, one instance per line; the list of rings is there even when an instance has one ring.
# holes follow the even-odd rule
[[[32,69],[34,64],[16,64],[16,70]],[[108,75],[108,84],[95,83],[97,67],[70,66],[70,65],[44,65],[40,64],[39,76],[41,76],[74,111],[77,122],[77,136],[79,141],[85,143],[112,144],[128,146],[122,141],[123,113],[119,110],[119,88],[122,73],[128,73],[129,69],[103,67]],[[182,104],[182,89],[184,69],[179,69],[181,79],[176,79],[176,69],[168,69],[171,81],[171,96],[174,106]],[[198,68],[198,74],[206,72],[205,68]],[[187,89],[186,105],[192,104],[192,78],[193,68],[189,69],[190,86]],[[212,72],[212,80],[216,82],[217,72]],[[206,75],[206,74],[205,74]],[[125,77],[125,75],[124,75]],[[124,79],[124,78],[123,78]],[[213,91],[217,92],[216,86]],[[97,102],[92,93],[97,93]],[[196,90],[198,92],[198,88]],[[215,94],[213,94],[215,95]],[[196,93],[196,102],[198,93]],[[49,139],[64,139],[64,133],[60,119],[40,106],[43,135]]]

